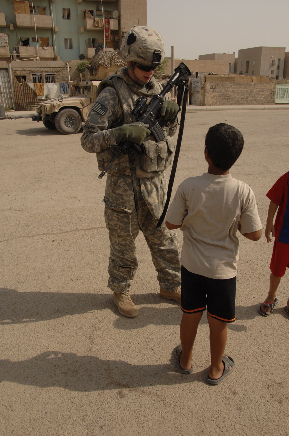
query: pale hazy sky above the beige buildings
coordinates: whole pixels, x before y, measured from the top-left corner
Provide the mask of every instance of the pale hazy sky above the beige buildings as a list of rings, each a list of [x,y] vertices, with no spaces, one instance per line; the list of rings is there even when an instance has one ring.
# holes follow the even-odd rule
[[[165,56],[198,59],[199,54],[242,48],[286,47],[289,0],[147,0],[147,25],[163,37]]]

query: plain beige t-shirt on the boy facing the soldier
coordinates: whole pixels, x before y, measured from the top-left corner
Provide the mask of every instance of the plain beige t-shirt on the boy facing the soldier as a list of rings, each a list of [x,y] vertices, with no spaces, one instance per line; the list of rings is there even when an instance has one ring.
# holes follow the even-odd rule
[[[230,279],[237,274],[239,220],[241,233],[262,228],[252,189],[231,174],[204,173],[183,181],[166,220],[181,225],[181,264],[212,279]]]

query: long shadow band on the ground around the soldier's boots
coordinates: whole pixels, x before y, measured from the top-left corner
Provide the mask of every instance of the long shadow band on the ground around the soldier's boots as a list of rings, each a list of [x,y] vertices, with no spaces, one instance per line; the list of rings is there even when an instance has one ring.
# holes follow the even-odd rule
[[[105,309],[116,315],[113,324],[121,330],[140,329],[149,324],[180,324],[182,312],[177,302],[165,300],[158,293],[134,294],[133,300],[139,309],[139,315],[136,318],[126,318],[118,313],[111,293],[18,292],[0,288],[0,324],[27,324]],[[237,322],[228,324],[228,327],[244,332],[247,328],[239,321],[256,316],[259,316],[257,305],[237,306]],[[205,312],[200,324],[207,323]]]

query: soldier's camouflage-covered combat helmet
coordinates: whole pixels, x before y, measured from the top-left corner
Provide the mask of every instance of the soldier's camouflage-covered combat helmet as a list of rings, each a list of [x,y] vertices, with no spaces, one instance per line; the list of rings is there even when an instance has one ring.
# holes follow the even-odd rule
[[[124,62],[157,67],[164,60],[164,42],[152,27],[134,26],[126,33],[118,54]]]

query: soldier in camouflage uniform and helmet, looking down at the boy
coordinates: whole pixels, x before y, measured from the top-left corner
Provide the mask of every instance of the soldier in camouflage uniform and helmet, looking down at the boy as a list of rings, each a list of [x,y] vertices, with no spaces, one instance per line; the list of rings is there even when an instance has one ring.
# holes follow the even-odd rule
[[[165,139],[156,143],[148,125],[136,122],[131,111],[139,96],[147,97],[149,103],[153,95],[161,92],[161,85],[153,74],[164,58],[162,38],[151,27],[134,26],[125,35],[118,54],[128,67],[121,68],[119,75],[109,76],[98,86],[81,145],[87,152],[96,153],[100,170],[113,157],[113,149],[124,141],[141,144],[144,150],[141,155],[135,152],[138,218],[127,154],[121,154],[111,165],[104,197],[104,217],[111,242],[108,287],[113,291],[119,312],[133,318],[138,310],[128,289],[138,268],[134,243],[139,232],[138,220],[148,231],[161,216],[167,188],[164,170],[171,164],[175,150],[172,136],[177,130],[178,105],[168,99],[164,101],[161,120],[165,120],[162,127]],[[180,257],[175,231],[168,230],[163,223],[156,232],[144,236],[158,272],[160,295],[181,303]]]

